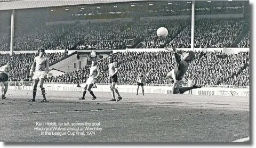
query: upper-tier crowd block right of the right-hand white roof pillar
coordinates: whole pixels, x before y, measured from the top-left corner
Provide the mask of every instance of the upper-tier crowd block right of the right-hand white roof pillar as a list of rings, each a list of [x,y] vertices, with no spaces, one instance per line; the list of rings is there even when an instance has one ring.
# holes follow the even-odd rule
[[[241,18],[199,19],[195,21],[195,47],[230,47],[244,24]]]

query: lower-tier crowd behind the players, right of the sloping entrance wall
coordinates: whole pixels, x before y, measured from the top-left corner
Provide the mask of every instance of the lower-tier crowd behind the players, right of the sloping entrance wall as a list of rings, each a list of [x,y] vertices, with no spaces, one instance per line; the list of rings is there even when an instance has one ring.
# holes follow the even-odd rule
[[[148,84],[171,84],[166,78],[166,73],[174,68],[174,55],[171,52],[122,52],[113,55],[118,63],[118,83],[133,84],[140,72],[145,75]],[[225,54],[221,52],[196,52],[196,59],[190,63],[185,75],[192,76],[192,80],[198,85],[224,85],[232,82],[236,85],[249,84],[249,68],[244,65],[249,62],[249,52],[238,54]],[[97,83],[108,83],[107,58],[98,62],[102,76]],[[55,83],[85,83],[90,65],[76,71],[50,77],[46,81]],[[242,71],[239,73],[239,71]],[[236,77],[239,82],[236,82]],[[238,75],[238,76],[237,76]],[[241,82],[240,82],[241,81]]]

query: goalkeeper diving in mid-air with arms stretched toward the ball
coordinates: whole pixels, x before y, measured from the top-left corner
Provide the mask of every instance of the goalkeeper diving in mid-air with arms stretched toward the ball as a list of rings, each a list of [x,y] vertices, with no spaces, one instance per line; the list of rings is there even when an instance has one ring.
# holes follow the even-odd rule
[[[193,51],[188,51],[181,58],[180,54],[176,52],[175,45],[172,46],[172,49],[165,48],[165,50],[174,52],[174,57],[176,61],[174,69],[166,75],[166,77],[169,77],[174,81],[172,87],[173,94],[183,94],[191,89],[201,88],[202,86],[196,85],[193,85],[191,87],[182,87],[185,81],[184,75],[188,71],[189,63],[194,60],[195,53]]]

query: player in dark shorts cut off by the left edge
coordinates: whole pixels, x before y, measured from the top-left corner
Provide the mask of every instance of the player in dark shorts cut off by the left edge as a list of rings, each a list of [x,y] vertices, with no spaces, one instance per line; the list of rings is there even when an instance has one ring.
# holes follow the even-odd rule
[[[8,77],[9,77],[9,72],[11,71],[10,68],[11,62],[10,61],[6,61],[5,65],[3,65],[2,67],[0,67],[0,90],[2,92],[2,99],[6,99],[5,95],[7,93],[8,90]]]

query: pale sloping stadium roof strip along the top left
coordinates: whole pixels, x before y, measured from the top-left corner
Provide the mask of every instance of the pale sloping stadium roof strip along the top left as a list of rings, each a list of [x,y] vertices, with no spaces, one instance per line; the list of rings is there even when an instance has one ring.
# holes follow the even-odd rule
[[[145,0],[140,0],[145,1]],[[1,2],[1,1],[0,1]],[[85,4],[102,4],[102,3],[119,3],[119,2],[134,2],[134,0],[66,0],[66,1],[9,1],[0,4],[0,10],[13,10],[13,9],[29,9],[38,7],[54,7],[54,6],[70,6],[70,5],[85,5]]]

